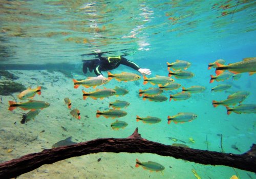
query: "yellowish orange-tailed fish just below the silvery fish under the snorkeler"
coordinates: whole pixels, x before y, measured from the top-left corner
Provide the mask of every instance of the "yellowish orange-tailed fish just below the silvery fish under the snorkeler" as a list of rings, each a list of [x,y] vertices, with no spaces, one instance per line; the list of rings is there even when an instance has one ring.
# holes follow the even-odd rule
[[[92,99],[103,99],[105,97],[113,96],[116,94],[116,91],[114,89],[96,89],[94,92],[87,93],[82,90],[83,93],[83,99],[85,100],[87,97],[91,97]]]

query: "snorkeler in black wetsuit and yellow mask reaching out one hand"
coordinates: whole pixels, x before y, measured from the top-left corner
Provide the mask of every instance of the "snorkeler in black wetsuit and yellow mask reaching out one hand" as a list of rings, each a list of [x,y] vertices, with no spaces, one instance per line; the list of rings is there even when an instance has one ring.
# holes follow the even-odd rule
[[[101,71],[108,71],[118,68],[120,64],[130,66],[134,70],[137,70],[142,75],[151,75],[150,69],[141,69],[136,63],[127,60],[122,56],[118,57],[102,57],[102,53],[98,51],[98,58],[93,60],[85,60],[83,62],[82,71],[84,74],[88,72],[87,68],[90,72],[94,71],[94,73],[98,77],[102,77]]]

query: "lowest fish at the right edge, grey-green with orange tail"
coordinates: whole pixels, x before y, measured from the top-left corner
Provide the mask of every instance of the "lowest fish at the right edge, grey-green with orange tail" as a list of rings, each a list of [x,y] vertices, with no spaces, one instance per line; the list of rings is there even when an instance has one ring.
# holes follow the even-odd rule
[[[230,115],[231,112],[237,113],[237,114],[242,114],[242,113],[256,113],[256,104],[239,104],[236,107],[227,108],[227,115]]]

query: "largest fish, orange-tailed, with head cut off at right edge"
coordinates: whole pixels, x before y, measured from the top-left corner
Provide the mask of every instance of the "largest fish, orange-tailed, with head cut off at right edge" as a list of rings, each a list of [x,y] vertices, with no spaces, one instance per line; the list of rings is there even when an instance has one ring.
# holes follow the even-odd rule
[[[243,61],[230,63],[228,65],[223,65],[220,63],[216,63],[216,65],[216,75],[223,73],[225,70],[228,70],[229,72],[234,74],[248,72],[249,75],[253,75],[254,73],[256,73],[256,57],[244,58]]]

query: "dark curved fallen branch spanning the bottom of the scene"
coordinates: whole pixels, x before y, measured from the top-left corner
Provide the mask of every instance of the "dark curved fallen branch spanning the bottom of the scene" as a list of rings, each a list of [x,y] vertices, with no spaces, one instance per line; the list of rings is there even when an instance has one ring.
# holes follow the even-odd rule
[[[125,139],[95,139],[70,146],[45,149],[38,153],[31,153],[19,159],[7,161],[0,164],[0,178],[15,177],[44,164],[52,164],[74,156],[98,152],[156,153],[204,165],[225,165],[256,172],[255,144],[252,145],[249,151],[243,154],[198,150],[148,141],[140,137],[138,128],[136,128],[134,133]]]

